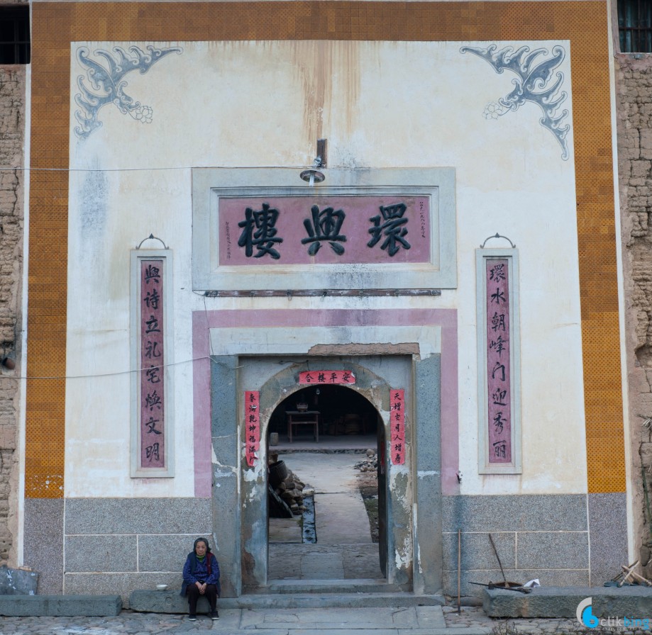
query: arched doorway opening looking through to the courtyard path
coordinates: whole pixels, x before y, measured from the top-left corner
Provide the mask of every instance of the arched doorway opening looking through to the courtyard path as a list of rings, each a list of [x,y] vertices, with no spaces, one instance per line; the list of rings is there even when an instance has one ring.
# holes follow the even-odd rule
[[[267,427],[268,580],[387,575],[385,425],[348,386],[299,388]]]

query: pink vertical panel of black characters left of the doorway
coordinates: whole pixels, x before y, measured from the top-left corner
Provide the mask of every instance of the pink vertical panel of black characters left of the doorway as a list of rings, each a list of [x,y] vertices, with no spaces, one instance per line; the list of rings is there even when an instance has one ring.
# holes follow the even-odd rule
[[[140,468],[165,468],[163,260],[140,262]]]

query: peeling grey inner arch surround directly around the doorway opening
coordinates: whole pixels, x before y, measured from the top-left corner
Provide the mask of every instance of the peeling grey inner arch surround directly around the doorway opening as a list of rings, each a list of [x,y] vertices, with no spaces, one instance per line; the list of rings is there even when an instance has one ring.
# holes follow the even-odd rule
[[[388,456],[387,433],[390,420],[390,396],[392,389],[402,387],[405,392],[406,439],[411,439],[412,433],[412,359],[410,356],[353,356],[348,358],[334,356],[302,356],[292,359],[289,356],[240,357],[238,359],[238,386],[241,397],[247,390],[256,390],[259,395],[260,448],[255,461],[241,462],[238,476],[239,506],[237,510],[239,532],[237,549],[241,555],[241,580],[245,592],[255,592],[261,588],[270,587],[268,571],[268,478],[267,464],[270,446],[267,445],[268,432],[272,416],[280,404],[291,398],[290,404],[296,408],[295,393],[304,390],[301,383],[302,373],[313,373],[316,369],[346,370],[355,375],[355,385],[341,387],[358,393],[372,405],[377,412],[377,433],[382,435],[380,444],[377,442],[379,456]],[[223,389],[224,387],[221,386]],[[321,400],[321,393],[319,395]],[[238,405],[243,412],[244,403]],[[380,425],[382,422],[382,425]],[[248,428],[244,419],[240,420],[238,439],[244,449],[248,440]],[[314,435],[316,437],[316,434]],[[341,438],[341,437],[338,437]],[[316,439],[315,439],[316,440]],[[321,441],[321,435],[320,435]],[[410,441],[411,446],[411,441]],[[244,455],[243,459],[244,459]],[[381,496],[385,495],[385,518],[387,529],[382,544],[383,553],[392,554],[387,557],[387,585],[394,588],[409,589],[412,580],[413,539],[412,539],[412,487],[410,466],[411,454],[408,449],[404,464],[394,464],[387,461],[385,485],[381,487]],[[221,488],[221,483],[219,483]],[[214,515],[229,513],[219,507],[220,488],[214,488]],[[376,586],[376,588],[378,588]]]

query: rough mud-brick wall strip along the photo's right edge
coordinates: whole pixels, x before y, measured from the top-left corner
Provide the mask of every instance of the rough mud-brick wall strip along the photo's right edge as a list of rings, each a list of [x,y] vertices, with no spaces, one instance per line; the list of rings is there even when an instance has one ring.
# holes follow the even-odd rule
[[[652,58],[617,54],[616,71],[635,548],[641,546],[649,578],[652,527],[644,487],[652,485]]]

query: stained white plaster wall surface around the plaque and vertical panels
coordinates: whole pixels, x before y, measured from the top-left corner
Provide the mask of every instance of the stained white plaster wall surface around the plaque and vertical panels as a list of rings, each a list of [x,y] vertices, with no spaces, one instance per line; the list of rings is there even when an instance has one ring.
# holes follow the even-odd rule
[[[192,369],[184,361],[192,358],[191,312],[204,306],[457,308],[461,491],[585,491],[572,133],[563,161],[533,103],[485,120],[485,106],[512,91],[514,75],[460,53],[482,43],[155,44],[183,52],[125,77],[126,93],[152,106],[152,123],[109,105],[99,111],[102,128],[79,140],[71,104],[78,171],[70,176],[65,494],[193,495]],[[523,43],[498,43],[507,44]],[[568,43],[528,44],[565,46],[570,111]],[[81,45],[111,51],[116,43],[72,45],[73,98],[85,75],[74,58]],[[455,168],[458,290],[291,301],[192,293],[190,168],[306,166],[318,137],[328,139],[329,167]],[[522,476],[477,475],[475,249],[496,232],[520,250]],[[129,476],[128,281],[129,250],[150,233],[174,250],[177,476],[143,480]]]

